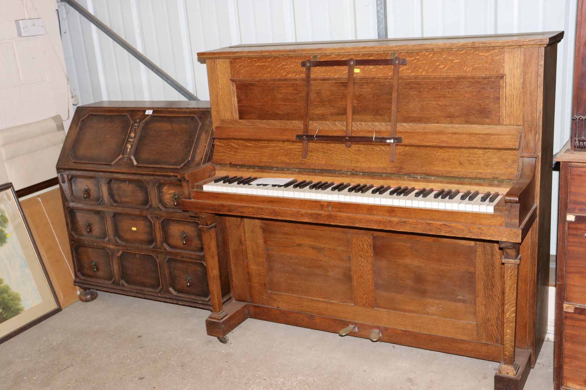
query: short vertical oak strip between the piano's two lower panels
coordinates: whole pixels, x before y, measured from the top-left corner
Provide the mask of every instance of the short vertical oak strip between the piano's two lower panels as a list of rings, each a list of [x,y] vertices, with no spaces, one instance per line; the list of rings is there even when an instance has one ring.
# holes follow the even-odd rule
[[[352,234],[350,260],[352,261],[352,291],[354,304],[374,308],[373,237]]]

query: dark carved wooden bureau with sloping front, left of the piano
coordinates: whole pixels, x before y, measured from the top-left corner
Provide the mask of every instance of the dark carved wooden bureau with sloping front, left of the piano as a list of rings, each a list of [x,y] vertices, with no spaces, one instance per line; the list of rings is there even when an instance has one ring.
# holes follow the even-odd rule
[[[209,102],[77,108],[57,172],[82,301],[98,289],[210,309],[199,223],[179,202],[211,152]]]

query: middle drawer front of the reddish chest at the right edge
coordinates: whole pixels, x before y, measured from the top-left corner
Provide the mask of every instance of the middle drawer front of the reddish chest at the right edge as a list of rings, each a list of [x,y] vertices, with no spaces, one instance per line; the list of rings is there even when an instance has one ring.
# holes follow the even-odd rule
[[[586,223],[568,222],[565,301],[586,305]]]

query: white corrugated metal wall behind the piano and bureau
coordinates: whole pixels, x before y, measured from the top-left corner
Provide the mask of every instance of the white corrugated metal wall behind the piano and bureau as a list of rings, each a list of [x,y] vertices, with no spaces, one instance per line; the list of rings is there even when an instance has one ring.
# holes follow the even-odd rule
[[[377,37],[376,0],[78,0],[200,99],[208,99],[199,51],[240,43]],[[577,0],[387,0],[388,36],[564,30],[558,46],[554,150],[570,134]],[[183,100],[148,68],[66,4],[63,51],[80,103]],[[552,232],[557,229],[554,172]],[[551,235],[556,253],[556,234]]]

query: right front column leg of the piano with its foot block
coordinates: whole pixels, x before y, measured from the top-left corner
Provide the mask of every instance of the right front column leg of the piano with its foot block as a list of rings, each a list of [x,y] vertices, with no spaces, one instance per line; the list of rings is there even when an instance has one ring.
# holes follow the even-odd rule
[[[495,390],[520,390],[523,388],[531,366],[531,351],[516,349],[517,289],[519,287],[519,243],[500,242],[503,250],[504,317],[503,317],[503,361],[495,374]]]

